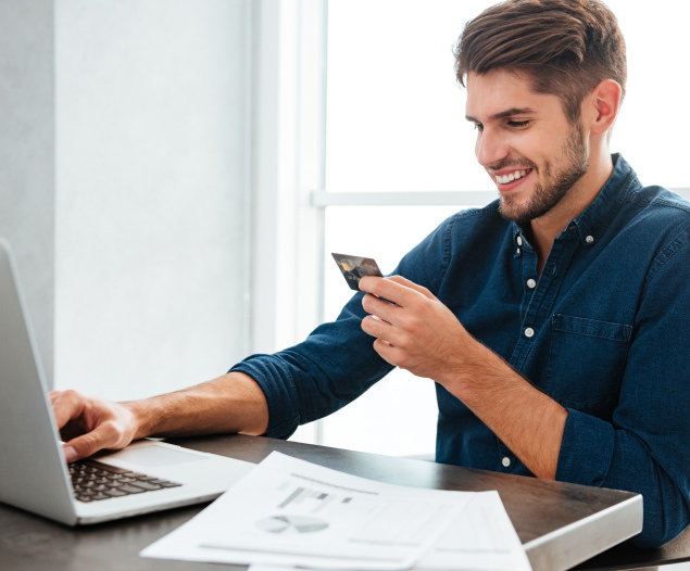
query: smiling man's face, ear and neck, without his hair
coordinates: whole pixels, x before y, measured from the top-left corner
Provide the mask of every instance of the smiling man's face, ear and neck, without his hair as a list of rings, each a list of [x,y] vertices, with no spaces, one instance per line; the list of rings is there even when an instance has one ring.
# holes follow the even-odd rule
[[[569,119],[559,96],[532,84],[513,69],[468,72],[467,119],[478,130],[477,160],[501,194],[499,212],[531,233],[541,268],[555,237],[613,173],[606,135],[622,88],[603,79]]]

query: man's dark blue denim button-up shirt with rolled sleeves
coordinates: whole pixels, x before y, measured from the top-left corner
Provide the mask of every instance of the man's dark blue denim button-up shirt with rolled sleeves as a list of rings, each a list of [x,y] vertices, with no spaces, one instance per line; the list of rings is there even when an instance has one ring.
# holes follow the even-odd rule
[[[656,546],[690,521],[690,205],[643,188],[623,157],[614,161],[541,275],[498,201],[447,219],[394,274],[428,288],[567,408],[556,479],[641,493],[644,529],[635,542]],[[361,299],[303,343],[234,368],[264,391],[267,435],[289,436],[391,370],[360,327]],[[440,385],[437,397],[437,461],[530,474],[461,401]]]

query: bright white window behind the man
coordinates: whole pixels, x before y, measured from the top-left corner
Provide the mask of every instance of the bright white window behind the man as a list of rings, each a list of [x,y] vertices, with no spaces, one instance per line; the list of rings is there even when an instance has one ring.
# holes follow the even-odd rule
[[[384,271],[451,213],[482,205],[493,187],[474,158],[452,47],[464,23],[493,1],[350,0],[328,4],[324,318],[347,300],[329,252],[376,257]],[[611,0],[628,45],[628,96],[614,129],[643,182],[690,186],[685,173],[688,92],[678,72],[678,4]],[[686,193],[687,191],[681,190]],[[394,371],[322,421],[319,442],[386,454],[430,453],[432,382]]]

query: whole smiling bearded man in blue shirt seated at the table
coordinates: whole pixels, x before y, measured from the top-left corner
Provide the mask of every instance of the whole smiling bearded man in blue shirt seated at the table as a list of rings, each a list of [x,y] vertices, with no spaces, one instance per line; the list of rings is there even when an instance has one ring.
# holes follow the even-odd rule
[[[362,278],[367,294],[294,347],[141,402],[53,393],[59,426],[85,432],[66,458],[154,434],[287,437],[398,366],[436,381],[438,461],[639,492],[636,542],[677,535],[690,521],[690,205],[610,153],[625,62],[599,2],[485,11],[456,74],[500,199],[446,220],[396,276]]]

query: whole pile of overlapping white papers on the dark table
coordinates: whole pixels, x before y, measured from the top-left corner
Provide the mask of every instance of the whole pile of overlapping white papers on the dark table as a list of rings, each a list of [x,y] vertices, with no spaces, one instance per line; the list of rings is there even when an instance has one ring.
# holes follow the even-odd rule
[[[280,453],[141,555],[281,571],[530,569],[497,492],[386,484]]]

